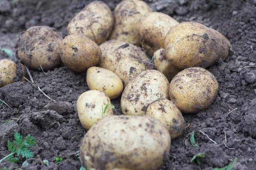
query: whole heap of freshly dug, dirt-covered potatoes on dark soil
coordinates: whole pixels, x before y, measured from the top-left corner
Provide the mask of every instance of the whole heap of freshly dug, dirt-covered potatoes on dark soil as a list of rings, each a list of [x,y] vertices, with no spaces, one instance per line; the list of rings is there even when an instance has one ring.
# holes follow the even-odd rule
[[[87,73],[90,91],[77,100],[88,130],[80,147],[84,166],[158,170],[169,159],[171,139],[186,128],[182,113],[203,111],[215,99],[218,81],[205,68],[227,58],[230,42],[200,23],[153,12],[140,0],[123,0],[113,14],[102,1],[89,3],[67,31],[63,38],[54,28],[29,28],[20,34],[17,57],[33,69],[62,62]],[[1,86],[13,82],[1,62],[0,71]],[[122,116],[109,107],[118,97]]]

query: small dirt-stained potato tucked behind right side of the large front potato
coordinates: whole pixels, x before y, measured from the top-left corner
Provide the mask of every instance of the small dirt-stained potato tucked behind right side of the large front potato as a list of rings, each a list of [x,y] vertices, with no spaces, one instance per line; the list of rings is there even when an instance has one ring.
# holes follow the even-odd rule
[[[180,136],[186,128],[180,110],[168,99],[158,99],[151,103],[147,108],[146,115],[152,116],[166,125],[171,139]]]

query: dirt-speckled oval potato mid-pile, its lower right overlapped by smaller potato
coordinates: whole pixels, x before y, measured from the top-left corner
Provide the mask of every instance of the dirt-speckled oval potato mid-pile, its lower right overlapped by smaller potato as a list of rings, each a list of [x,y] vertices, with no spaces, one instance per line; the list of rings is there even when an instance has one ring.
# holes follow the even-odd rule
[[[169,99],[168,79],[157,70],[138,74],[122,93],[121,109],[125,115],[145,115],[148,105],[157,99]]]

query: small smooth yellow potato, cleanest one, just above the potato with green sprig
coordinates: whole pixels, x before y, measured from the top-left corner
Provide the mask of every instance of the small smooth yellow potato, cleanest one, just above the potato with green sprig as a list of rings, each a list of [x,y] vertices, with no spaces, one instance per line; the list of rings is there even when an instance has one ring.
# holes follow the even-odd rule
[[[87,70],[86,82],[90,90],[103,91],[110,99],[115,99],[122,94],[122,80],[105,68],[90,67]]]

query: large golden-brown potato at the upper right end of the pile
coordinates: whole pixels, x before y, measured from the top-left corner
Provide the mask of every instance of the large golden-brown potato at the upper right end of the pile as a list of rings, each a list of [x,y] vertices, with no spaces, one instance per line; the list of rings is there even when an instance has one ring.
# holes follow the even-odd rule
[[[212,28],[185,22],[169,30],[164,49],[167,60],[179,69],[195,66],[207,68],[218,59],[227,58],[230,42]]]

